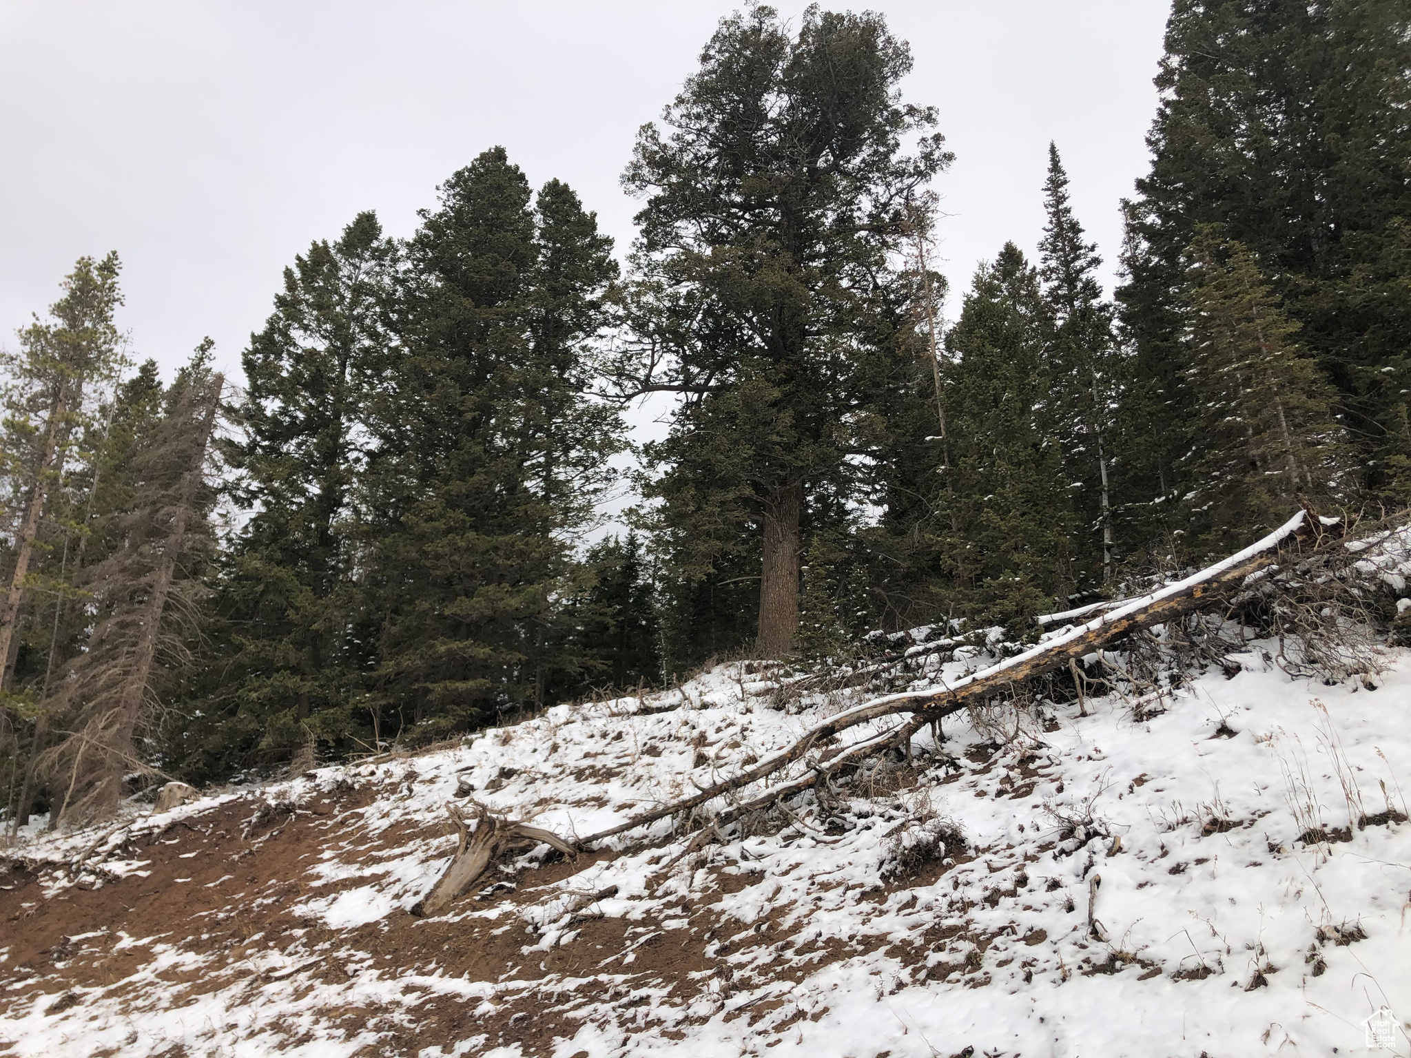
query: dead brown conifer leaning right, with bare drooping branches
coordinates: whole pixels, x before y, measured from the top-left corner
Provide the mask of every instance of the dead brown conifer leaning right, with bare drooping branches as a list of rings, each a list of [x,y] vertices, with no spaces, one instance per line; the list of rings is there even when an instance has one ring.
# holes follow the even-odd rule
[[[55,690],[52,708],[71,734],[40,758],[51,828],[110,813],[124,773],[157,774],[140,739],[169,669],[188,660],[214,547],[206,454],[223,379],[205,350],[178,375],[161,425],[135,453],[141,484],[121,521],[121,547],[83,577],[99,619]]]

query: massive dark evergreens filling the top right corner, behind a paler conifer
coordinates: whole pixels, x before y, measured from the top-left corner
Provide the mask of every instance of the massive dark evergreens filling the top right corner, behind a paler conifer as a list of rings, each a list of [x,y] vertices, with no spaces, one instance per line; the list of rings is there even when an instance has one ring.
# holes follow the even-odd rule
[[[1408,466],[1411,16],[1398,0],[1175,0],[1150,175],[1127,203],[1123,324],[1141,381],[1125,443],[1137,478],[1185,490],[1195,415],[1181,343],[1185,248],[1225,226],[1270,276],[1328,372],[1367,485]]]

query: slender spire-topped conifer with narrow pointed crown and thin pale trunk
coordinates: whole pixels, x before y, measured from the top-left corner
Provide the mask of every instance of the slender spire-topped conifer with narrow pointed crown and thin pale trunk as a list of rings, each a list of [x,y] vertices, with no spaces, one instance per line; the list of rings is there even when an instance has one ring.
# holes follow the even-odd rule
[[[1082,226],[1068,202],[1068,174],[1058,147],[1048,144],[1048,179],[1044,183],[1044,212],[1048,217],[1038,241],[1038,275],[1044,284],[1047,312],[1048,377],[1062,471],[1081,485],[1074,508],[1091,529],[1075,539],[1074,560],[1085,587],[1112,580],[1112,412],[1116,406],[1116,355],[1112,310],[1102,299],[1098,282],[1095,243],[1084,237]],[[1101,542],[1101,549],[1099,545]],[[1101,573],[1098,573],[1101,570]]]

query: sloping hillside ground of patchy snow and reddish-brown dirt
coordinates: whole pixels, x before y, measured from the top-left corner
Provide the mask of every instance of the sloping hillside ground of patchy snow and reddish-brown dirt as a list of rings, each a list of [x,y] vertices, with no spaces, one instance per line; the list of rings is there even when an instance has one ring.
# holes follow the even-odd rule
[[[409,908],[447,803],[594,832],[865,690],[722,664],[161,815],[37,820],[0,873],[0,1055],[1291,1057],[1367,1054],[1383,1006],[1407,1054],[1411,652],[1363,687],[1274,650],[1140,703],[961,714],[701,848],[672,820],[539,846],[433,918]]]

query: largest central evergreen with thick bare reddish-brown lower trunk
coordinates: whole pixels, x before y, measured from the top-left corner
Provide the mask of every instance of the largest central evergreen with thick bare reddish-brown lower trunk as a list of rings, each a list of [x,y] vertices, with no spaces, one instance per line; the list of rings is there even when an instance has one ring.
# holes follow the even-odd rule
[[[642,360],[622,364],[622,387],[684,396],[648,450],[667,580],[735,635],[758,600],[766,657],[793,649],[807,528],[871,487],[859,457],[879,450],[880,409],[914,374],[893,258],[907,202],[950,155],[926,133],[934,113],[899,100],[910,65],[879,16],[810,7],[792,35],[752,7],[721,21],[665,113],[669,134],[643,127],[624,176],[646,205]]]

